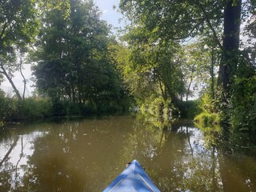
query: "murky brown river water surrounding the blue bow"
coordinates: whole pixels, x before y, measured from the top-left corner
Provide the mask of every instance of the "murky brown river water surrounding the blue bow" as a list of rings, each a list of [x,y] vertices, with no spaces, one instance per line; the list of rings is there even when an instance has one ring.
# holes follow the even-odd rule
[[[161,191],[256,191],[256,161],[209,145],[193,123],[42,122],[0,132],[0,191],[104,190],[137,159]]]

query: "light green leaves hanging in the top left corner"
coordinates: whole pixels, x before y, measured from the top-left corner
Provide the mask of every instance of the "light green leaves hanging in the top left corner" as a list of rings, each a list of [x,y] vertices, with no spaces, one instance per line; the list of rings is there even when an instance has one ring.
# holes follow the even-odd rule
[[[35,2],[2,0],[0,2],[1,56],[11,53],[14,46],[32,42],[38,32]]]

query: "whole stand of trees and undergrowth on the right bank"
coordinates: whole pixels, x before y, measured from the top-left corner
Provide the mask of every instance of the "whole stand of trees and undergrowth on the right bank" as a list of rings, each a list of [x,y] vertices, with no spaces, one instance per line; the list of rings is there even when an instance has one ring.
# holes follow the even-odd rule
[[[227,131],[255,133],[255,50],[253,41],[240,43],[242,25],[254,38],[254,1],[122,0],[120,9],[130,19],[124,36],[130,70],[144,80],[131,89],[148,90],[154,82],[147,94],[170,98],[184,111],[182,98],[198,79],[206,114],[220,118]]]

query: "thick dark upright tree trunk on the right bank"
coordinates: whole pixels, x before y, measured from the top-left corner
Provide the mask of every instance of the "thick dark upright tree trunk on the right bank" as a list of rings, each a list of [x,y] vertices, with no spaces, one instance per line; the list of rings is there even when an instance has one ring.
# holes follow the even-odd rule
[[[230,0],[224,10],[222,62],[219,67],[218,86],[228,91],[238,66],[242,0]]]

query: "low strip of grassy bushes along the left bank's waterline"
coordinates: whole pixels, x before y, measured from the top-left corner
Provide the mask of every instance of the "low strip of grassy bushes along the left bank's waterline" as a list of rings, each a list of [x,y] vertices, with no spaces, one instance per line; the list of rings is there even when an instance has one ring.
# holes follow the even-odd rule
[[[102,102],[99,106],[91,103],[70,103],[53,101],[50,98],[8,98],[0,93],[0,126],[5,122],[37,120],[62,116],[85,116],[89,114],[124,114],[129,110],[126,102]]]

